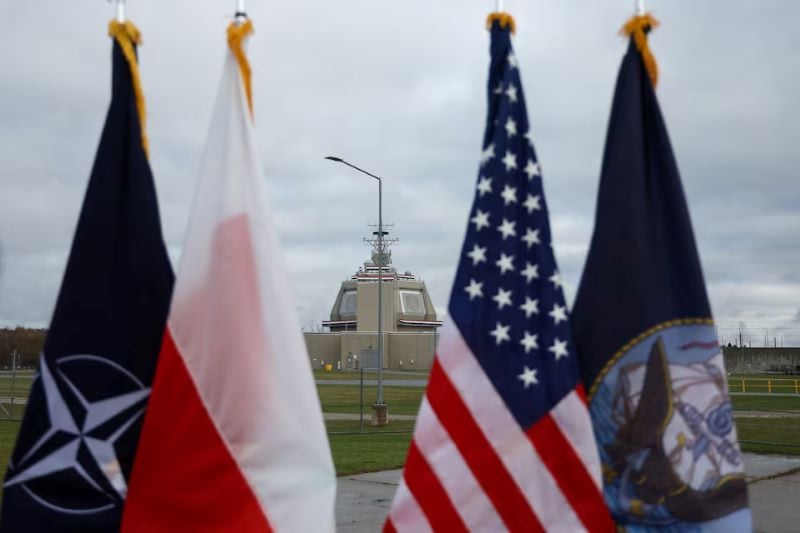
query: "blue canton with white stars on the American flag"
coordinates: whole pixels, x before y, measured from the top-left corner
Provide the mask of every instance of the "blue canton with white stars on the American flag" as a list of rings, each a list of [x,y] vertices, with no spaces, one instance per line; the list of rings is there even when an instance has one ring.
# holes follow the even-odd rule
[[[508,29],[492,28],[489,113],[449,312],[523,429],[578,383],[541,172]]]

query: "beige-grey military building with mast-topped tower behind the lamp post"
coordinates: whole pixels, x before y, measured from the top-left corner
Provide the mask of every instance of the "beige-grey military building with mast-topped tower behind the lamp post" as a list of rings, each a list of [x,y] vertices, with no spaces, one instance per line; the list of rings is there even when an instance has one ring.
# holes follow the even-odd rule
[[[305,333],[314,368],[377,368],[378,290],[383,291],[383,367],[427,370],[433,364],[442,323],[425,282],[410,271],[398,272],[388,249],[379,281],[377,260],[373,249],[364,266],[341,283],[330,320],[322,322],[328,331]]]

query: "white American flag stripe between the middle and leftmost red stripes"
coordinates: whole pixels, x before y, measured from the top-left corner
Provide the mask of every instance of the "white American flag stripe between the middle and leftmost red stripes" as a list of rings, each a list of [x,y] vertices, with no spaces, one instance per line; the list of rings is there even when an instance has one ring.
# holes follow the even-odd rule
[[[472,475],[427,398],[423,400],[417,416],[414,442],[467,528],[472,531],[506,530],[494,505]]]

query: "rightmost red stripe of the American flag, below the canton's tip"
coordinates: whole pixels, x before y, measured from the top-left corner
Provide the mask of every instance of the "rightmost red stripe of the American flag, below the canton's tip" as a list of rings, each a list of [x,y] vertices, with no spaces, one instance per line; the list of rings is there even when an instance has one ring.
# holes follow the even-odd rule
[[[603,495],[553,418],[542,417],[530,427],[528,437],[583,525],[591,531],[613,532]]]

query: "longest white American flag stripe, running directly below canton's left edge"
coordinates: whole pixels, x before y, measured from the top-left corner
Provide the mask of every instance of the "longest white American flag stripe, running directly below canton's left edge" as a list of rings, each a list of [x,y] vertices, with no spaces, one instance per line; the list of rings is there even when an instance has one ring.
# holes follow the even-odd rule
[[[584,531],[552,474],[449,317],[442,327],[437,357],[542,526],[548,531]]]

